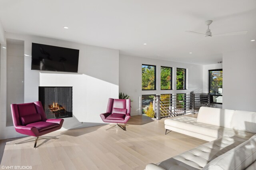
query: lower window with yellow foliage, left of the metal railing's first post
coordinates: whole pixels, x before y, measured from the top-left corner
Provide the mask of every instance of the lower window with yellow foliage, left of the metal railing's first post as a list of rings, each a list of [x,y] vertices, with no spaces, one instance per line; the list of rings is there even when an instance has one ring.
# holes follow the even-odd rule
[[[154,99],[156,95],[142,95],[142,114],[148,117],[154,117]]]

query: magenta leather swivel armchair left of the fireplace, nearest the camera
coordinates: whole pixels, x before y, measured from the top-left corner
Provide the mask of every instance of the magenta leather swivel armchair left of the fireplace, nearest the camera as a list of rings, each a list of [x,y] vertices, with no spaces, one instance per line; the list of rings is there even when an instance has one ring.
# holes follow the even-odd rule
[[[34,103],[12,104],[11,109],[12,120],[16,132],[35,136],[36,140],[34,148],[36,148],[39,136],[60,129],[64,122],[64,119],[46,119],[46,115],[40,101]]]

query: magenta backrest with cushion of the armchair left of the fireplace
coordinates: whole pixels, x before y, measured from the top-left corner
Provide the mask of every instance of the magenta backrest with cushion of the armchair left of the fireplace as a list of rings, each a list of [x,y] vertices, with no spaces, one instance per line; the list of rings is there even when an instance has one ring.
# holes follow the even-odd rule
[[[40,101],[33,103],[11,104],[14,126],[46,121],[46,115]]]

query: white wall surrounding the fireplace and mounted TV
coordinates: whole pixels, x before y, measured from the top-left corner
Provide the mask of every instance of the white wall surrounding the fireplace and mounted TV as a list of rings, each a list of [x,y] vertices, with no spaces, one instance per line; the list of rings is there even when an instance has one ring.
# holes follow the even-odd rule
[[[64,119],[61,130],[103,123],[100,113],[106,112],[108,98],[118,98],[118,50],[12,33],[6,38],[23,40],[24,53],[30,56],[32,42],[80,49],[78,73],[31,70],[31,57],[25,56],[24,102],[38,101],[38,86],[72,86],[73,117]],[[0,139],[20,136],[13,127],[3,128]]]

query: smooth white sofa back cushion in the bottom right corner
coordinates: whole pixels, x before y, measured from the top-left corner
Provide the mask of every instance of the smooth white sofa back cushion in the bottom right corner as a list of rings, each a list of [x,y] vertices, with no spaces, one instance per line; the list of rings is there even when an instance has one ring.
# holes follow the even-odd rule
[[[250,138],[209,162],[203,170],[242,170],[256,160],[256,138]]]

